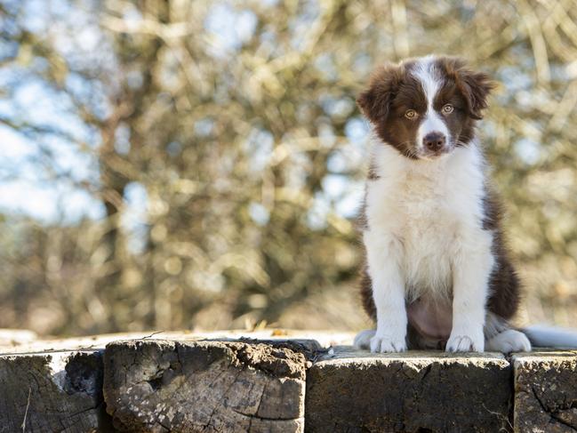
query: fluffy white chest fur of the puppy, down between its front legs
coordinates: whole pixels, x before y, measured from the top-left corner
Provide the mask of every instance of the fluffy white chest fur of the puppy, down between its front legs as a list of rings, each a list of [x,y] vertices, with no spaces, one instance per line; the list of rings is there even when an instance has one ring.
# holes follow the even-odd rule
[[[483,172],[475,148],[415,164],[381,150],[379,180],[367,184],[367,248],[394,248],[408,301],[448,299],[461,243],[481,233]],[[469,236],[469,235],[472,235]],[[477,242],[475,240],[474,242]],[[457,265],[458,266],[458,265]]]

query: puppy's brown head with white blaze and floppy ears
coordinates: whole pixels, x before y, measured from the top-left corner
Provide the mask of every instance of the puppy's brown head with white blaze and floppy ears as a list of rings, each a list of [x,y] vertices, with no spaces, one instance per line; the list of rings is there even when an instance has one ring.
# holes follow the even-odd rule
[[[378,68],[357,98],[381,140],[413,159],[465,146],[493,83],[451,57],[424,57]]]

